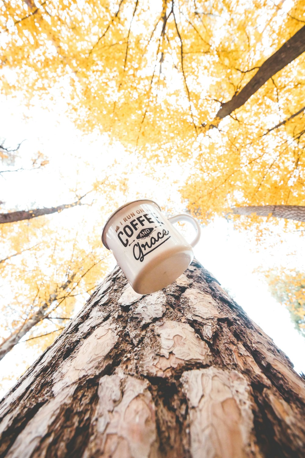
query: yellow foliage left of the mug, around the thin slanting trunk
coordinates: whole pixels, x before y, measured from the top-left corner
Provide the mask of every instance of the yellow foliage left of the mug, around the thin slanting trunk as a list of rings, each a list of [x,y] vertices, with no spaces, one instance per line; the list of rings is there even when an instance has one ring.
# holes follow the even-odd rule
[[[60,228],[59,237],[56,228],[50,227],[45,218],[1,227],[2,241],[6,239],[12,252],[20,249],[21,244],[24,248],[32,247],[0,264],[2,281],[9,279],[12,288],[11,293],[3,292],[11,299],[2,314],[4,338],[45,305],[45,315],[69,318],[75,303],[84,302],[105,275],[107,252],[96,236],[79,240],[77,230]],[[49,320],[47,329],[51,323],[57,322]],[[30,337],[43,334],[44,327],[45,322],[39,323]]]

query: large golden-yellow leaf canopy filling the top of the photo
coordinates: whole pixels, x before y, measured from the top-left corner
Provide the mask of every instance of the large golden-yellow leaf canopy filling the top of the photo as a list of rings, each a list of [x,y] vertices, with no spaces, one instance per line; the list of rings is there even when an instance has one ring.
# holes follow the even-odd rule
[[[83,130],[193,161],[182,195],[203,220],[239,202],[298,205],[303,13],[303,1],[16,1],[1,8],[2,91],[44,103],[59,91]]]

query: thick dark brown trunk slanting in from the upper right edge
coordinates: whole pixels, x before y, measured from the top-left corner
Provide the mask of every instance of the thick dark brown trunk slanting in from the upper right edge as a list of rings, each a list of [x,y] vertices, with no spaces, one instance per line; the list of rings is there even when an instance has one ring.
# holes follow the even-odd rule
[[[268,81],[271,76],[290,64],[299,55],[305,52],[305,26],[301,27],[289,40],[287,40],[273,55],[268,57],[259,67],[256,74],[247,82],[240,92],[228,102],[221,104],[215,118],[208,124],[203,124],[203,130],[217,127],[219,122],[234,110],[240,108],[257,90]]]

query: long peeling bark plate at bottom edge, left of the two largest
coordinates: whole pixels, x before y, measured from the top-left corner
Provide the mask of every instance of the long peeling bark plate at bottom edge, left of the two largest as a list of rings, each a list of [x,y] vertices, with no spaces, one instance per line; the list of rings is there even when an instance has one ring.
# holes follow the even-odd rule
[[[153,458],[158,440],[155,405],[148,382],[114,374],[104,376],[91,422],[91,438],[83,458]]]

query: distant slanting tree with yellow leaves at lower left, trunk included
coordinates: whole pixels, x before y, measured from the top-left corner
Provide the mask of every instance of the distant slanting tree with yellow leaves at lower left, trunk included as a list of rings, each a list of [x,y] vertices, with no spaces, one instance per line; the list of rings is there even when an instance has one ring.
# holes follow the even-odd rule
[[[57,234],[43,223],[39,229],[31,226],[30,246],[0,260],[2,289],[11,289],[0,297],[0,360],[21,341],[44,349],[55,337],[51,333],[66,326],[75,304],[86,298],[107,269],[98,238],[89,239],[88,252],[88,241],[79,240],[77,232],[71,241],[67,229]],[[27,245],[27,234],[22,235]]]

